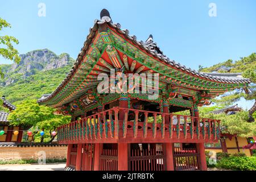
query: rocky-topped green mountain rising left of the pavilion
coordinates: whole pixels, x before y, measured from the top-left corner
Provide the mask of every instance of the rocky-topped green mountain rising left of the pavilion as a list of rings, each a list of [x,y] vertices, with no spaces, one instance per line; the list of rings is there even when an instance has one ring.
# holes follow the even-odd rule
[[[2,64],[5,78],[0,79],[0,96],[14,105],[51,93],[64,80],[75,60],[67,53],[56,55],[40,49],[20,55],[19,64]]]

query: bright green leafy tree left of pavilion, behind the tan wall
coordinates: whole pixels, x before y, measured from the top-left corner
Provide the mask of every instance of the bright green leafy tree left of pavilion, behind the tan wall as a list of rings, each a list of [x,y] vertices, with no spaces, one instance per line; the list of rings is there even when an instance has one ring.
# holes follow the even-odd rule
[[[70,117],[53,114],[55,109],[44,105],[39,105],[36,100],[24,101],[22,104],[16,105],[16,109],[12,111],[8,117],[11,125],[32,127],[34,134],[38,131],[56,130],[57,127],[68,123]],[[50,135],[51,136],[51,135]],[[55,138],[53,136],[50,142]],[[41,137],[41,142],[44,140],[44,135]]]

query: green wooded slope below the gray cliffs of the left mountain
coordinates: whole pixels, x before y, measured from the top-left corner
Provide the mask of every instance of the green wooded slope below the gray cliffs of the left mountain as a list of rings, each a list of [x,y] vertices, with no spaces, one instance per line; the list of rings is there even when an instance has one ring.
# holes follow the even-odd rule
[[[0,86],[0,95],[6,96],[8,100],[14,104],[20,104],[24,100],[34,100],[40,98],[43,94],[52,93],[59,86],[61,81],[71,69],[72,65],[49,70],[36,71],[35,75],[24,78],[22,73],[12,73],[0,81],[0,85],[8,78],[16,80],[15,83]],[[10,65],[0,65],[0,68],[9,69]]]

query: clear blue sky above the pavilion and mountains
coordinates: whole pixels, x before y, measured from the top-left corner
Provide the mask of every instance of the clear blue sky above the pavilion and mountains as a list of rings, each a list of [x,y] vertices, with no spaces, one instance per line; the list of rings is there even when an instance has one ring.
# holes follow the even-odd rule
[[[19,53],[48,48],[76,59],[103,8],[130,35],[146,40],[152,34],[165,55],[192,69],[255,52],[254,0],[0,1],[0,17],[12,25],[0,35],[15,36]],[[38,16],[39,3],[46,5],[45,17]],[[208,14],[209,3],[216,4],[216,17]],[[10,63],[0,57],[0,64]]]

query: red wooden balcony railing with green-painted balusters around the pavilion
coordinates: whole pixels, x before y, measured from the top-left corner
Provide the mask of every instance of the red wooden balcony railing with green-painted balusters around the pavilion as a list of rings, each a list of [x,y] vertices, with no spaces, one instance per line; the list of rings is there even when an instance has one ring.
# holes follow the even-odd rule
[[[60,143],[208,141],[220,138],[220,120],[113,107],[57,129]]]

